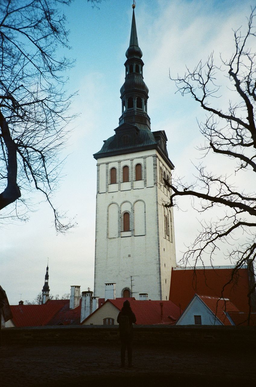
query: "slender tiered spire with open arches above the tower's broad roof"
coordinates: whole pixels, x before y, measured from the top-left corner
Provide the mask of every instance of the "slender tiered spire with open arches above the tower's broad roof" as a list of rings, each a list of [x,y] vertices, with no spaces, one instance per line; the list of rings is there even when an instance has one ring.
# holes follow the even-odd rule
[[[132,26],[130,44],[125,53],[125,82],[120,89],[122,100],[122,116],[119,126],[123,123],[142,123],[150,129],[150,118],[147,115],[148,88],[143,80],[142,51],[139,48],[134,8],[132,5]]]

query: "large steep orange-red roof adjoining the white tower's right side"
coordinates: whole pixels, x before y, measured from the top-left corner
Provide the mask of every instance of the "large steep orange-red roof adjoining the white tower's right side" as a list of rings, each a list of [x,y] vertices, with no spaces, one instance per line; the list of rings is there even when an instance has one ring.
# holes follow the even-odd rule
[[[169,300],[185,309],[194,294],[228,298],[239,310],[248,312],[249,280],[247,269],[239,269],[232,283],[221,294],[231,278],[232,267],[173,268]]]

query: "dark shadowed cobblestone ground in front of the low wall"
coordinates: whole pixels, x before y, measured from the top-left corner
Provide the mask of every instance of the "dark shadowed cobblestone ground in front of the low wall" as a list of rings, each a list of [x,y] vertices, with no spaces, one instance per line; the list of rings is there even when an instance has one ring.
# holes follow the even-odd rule
[[[0,347],[0,386],[253,386],[255,351],[134,346],[120,368],[119,345]]]

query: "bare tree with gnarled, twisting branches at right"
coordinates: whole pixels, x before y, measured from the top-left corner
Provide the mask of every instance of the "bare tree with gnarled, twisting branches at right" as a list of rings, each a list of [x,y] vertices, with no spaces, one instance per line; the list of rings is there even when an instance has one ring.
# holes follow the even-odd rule
[[[234,31],[234,54],[230,60],[222,60],[221,67],[214,65],[211,54],[205,65],[200,61],[193,71],[187,68],[183,77],[170,77],[183,96],[190,94],[207,112],[206,121],[199,124],[205,137],[200,150],[205,152],[205,156],[211,152],[219,155],[220,163],[221,158],[229,158],[233,165],[229,175],[221,172],[216,175],[201,163],[196,167],[195,183],[179,178],[165,180],[172,189],[167,207],[177,205],[178,197],[187,196],[197,204],[199,200],[199,212],[218,210],[218,215],[216,212],[212,214],[211,221],[202,221],[202,231],[185,252],[183,263],[192,259],[195,265],[204,265],[206,256],[213,263],[215,254],[224,243],[227,257],[235,262],[231,281],[242,265],[256,260],[256,53],[249,48],[255,45],[256,38],[254,12],[255,8],[248,18],[245,34],[241,28]],[[228,77],[230,81],[227,94],[233,93],[234,98],[227,101],[227,108],[218,105],[221,87],[217,86],[217,75]],[[223,94],[225,96],[225,92]],[[243,183],[241,174],[247,174]],[[243,235],[246,241],[242,240]],[[253,277],[250,294],[255,293]]]

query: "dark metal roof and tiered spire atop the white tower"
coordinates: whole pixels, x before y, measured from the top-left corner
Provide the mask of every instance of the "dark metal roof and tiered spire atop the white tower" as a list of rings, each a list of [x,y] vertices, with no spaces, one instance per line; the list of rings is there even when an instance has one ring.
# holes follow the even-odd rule
[[[161,130],[151,132],[150,130],[150,118],[147,115],[146,106],[148,88],[142,76],[144,63],[141,60],[142,51],[138,44],[134,7],[132,12],[130,45],[125,55],[127,57],[125,67],[127,66],[127,68],[125,71],[125,82],[120,89],[123,113],[119,118],[119,127],[115,128],[114,136],[105,140],[102,149],[93,154],[93,157],[98,159],[118,154],[157,149],[164,161],[173,169],[174,165],[168,158],[166,149],[167,137],[165,132]],[[140,98],[140,106],[137,106],[138,98]],[[129,105],[130,99],[133,101],[132,106]]]

